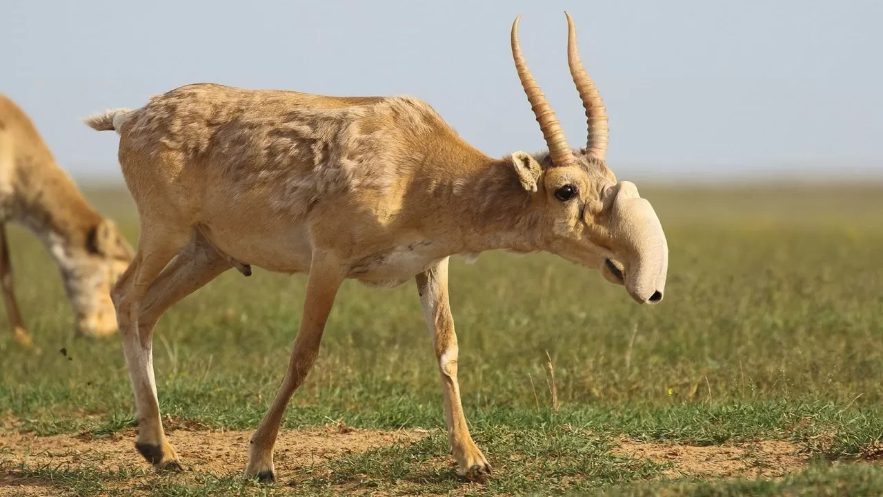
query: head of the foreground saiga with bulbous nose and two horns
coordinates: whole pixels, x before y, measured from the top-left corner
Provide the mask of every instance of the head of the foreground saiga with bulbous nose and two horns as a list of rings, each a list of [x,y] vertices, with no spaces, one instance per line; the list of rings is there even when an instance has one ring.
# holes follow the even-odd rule
[[[525,64],[512,24],[512,57],[527,100],[546,138],[548,153],[511,156],[518,180],[532,195],[532,210],[548,233],[544,249],[599,269],[624,285],[640,303],[660,302],[668,271],[668,244],[650,203],[630,181],[617,181],[605,162],[608,117],[577,52],[577,34],[567,14],[568,62],[588,119],[585,148],[573,149],[561,123]]]

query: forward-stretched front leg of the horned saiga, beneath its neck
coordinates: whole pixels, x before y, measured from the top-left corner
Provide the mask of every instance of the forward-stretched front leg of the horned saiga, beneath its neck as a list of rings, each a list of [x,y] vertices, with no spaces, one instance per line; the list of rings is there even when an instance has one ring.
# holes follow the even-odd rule
[[[426,326],[433,335],[435,358],[442,373],[444,415],[448,423],[448,444],[457,459],[457,473],[471,478],[484,478],[491,465],[472,441],[457,384],[457,333],[448,302],[448,258],[417,275],[417,290]]]

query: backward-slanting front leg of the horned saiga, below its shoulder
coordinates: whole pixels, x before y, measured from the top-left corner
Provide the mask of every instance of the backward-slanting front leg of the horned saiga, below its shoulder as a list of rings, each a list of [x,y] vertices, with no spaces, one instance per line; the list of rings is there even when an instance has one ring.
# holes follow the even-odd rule
[[[313,253],[298,336],[294,339],[294,346],[291,348],[291,359],[282,386],[252,436],[248,451],[248,466],[245,468],[245,475],[248,477],[257,477],[261,481],[275,479],[273,447],[279,433],[279,424],[282,423],[291,395],[304,383],[306,374],[319,355],[325,322],[328,320],[328,313],[331,312],[337,289],[344,277],[343,268],[335,256]]]

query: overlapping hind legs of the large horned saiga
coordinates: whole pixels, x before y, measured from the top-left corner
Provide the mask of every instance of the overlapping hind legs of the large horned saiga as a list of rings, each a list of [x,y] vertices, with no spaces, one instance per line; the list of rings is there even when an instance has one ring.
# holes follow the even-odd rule
[[[231,267],[198,231],[192,233],[190,244],[177,256],[174,252],[186,244],[187,239],[173,240],[174,243],[156,247],[152,239],[142,237],[138,255],[113,291],[125,360],[135,393],[138,421],[135,447],[156,470],[179,470],[181,466],[175,449],[166,440],[160,419],[153,364],[154,325],[175,302]],[[163,269],[173,256],[171,264]],[[145,291],[146,285],[149,287]]]

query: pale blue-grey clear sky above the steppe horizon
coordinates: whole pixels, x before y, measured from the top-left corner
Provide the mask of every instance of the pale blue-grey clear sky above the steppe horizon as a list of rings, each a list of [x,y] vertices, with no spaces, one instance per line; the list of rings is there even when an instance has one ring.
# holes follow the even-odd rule
[[[610,114],[620,176],[883,168],[883,2],[0,0],[0,92],[77,177],[119,180],[114,134],[79,122],[187,83],[410,94],[492,156],[542,149],[509,51],[575,145],[585,118],[567,10]]]

